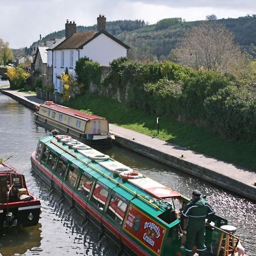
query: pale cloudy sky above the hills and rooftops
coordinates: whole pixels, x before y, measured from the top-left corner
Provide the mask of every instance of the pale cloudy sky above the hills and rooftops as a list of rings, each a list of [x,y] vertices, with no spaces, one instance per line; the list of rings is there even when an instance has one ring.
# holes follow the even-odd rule
[[[40,38],[63,30],[67,19],[92,26],[99,14],[107,22],[141,19],[155,24],[164,18],[186,21],[238,18],[256,14],[255,0],[0,0],[0,38],[9,47],[30,47]]]

